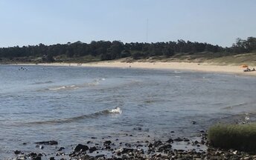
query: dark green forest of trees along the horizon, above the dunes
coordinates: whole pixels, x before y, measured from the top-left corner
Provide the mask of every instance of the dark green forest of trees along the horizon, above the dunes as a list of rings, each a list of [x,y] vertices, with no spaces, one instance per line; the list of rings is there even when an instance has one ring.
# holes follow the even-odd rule
[[[239,54],[249,53],[256,50],[256,38],[248,37],[246,40],[237,39],[232,47],[220,47],[218,45],[191,42],[191,41],[168,41],[156,43],[123,43],[121,41],[92,41],[90,44],[77,41],[67,44],[44,45],[23,47],[2,47],[0,48],[1,59],[14,59],[19,57],[32,57],[39,61],[55,61],[57,56],[66,56],[68,58],[94,56],[100,60],[121,59],[132,57],[132,59],[146,59],[150,56],[171,57],[176,53],[199,53],[205,54],[222,53]]]

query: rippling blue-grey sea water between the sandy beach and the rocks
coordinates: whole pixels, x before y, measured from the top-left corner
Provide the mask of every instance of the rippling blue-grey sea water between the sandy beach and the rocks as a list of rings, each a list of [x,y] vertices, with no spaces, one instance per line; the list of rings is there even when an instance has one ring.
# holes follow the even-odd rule
[[[217,73],[0,65],[0,157],[38,151],[36,141],[164,140],[255,121],[255,86],[256,77]]]

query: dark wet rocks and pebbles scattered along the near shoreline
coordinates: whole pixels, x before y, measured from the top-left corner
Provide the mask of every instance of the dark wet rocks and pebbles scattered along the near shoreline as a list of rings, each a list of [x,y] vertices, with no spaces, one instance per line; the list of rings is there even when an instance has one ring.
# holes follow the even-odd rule
[[[105,140],[102,144],[87,141],[86,144],[77,144],[71,152],[59,147],[57,141],[39,141],[36,147],[42,149],[42,153],[22,153],[22,150],[15,150],[15,160],[43,160],[43,159],[256,159],[256,154],[249,154],[237,150],[220,150],[208,146],[206,134],[201,131],[200,141],[187,138],[168,139],[167,141],[137,141],[135,144],[122,143],[118,139],[115,141]],[[92,137],[92,139],[97,139]],[[182,143],[184,149],[173,148],[176,143]],[[44,147],[56,145],[56,153],[44,153]],[[190,149],[188,146],[195,148]],[[202,149],[205,146],[205,150]],[[200,149],[201,148],[201,149]]]

